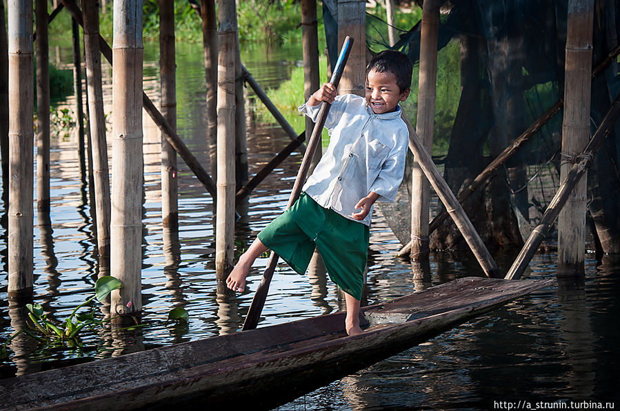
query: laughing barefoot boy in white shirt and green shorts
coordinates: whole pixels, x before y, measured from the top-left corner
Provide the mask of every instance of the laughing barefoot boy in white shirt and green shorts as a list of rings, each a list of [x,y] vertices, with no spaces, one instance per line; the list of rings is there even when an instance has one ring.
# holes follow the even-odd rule
[[[321,101],[331,103],[325,127],[330,144],[303,186],[299,200],[258,235],[226,284],[243,291],[254,260],[272,249],[297,273],[306,273],[316,247],[328,274],[346,295],[348,335],[362,333],[359,302],[375,201],[393,201],[403,178],[409,132],[399,103],[409,96],[412,67],[401,52],[380,52],[366,69],[366,98],[336,95],[331,83],[299,111],[316,121]]]

